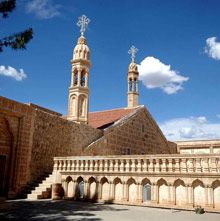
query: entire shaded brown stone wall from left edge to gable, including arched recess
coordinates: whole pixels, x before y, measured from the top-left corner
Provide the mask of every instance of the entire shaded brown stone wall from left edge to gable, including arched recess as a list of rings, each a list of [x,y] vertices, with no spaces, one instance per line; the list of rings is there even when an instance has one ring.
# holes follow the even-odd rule
[[[4,167],[0,195],[12,198],[51,171],[53,157],[81,155],[84,147],[103,134],[46,108],[4,97],[0,97],[0,127],[0,165]]]

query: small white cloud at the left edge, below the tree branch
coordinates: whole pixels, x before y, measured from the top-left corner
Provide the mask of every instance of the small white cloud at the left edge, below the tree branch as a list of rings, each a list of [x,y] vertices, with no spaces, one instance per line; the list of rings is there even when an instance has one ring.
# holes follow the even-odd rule
[[[20,69],[17,71],[15,68],[11,66],[0,66],[0,75],[14,78],[16,81],[22,81],[27,77],[27,75],[24,73],[23,69]]]

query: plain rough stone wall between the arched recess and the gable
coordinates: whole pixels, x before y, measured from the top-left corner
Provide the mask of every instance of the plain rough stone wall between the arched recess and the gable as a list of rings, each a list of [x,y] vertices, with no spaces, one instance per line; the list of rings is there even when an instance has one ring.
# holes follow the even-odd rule
[[[53,157],[82,155],[83,149],[102,136],[102,131],[36,110],[31,153],[31,180],[51,172]]]

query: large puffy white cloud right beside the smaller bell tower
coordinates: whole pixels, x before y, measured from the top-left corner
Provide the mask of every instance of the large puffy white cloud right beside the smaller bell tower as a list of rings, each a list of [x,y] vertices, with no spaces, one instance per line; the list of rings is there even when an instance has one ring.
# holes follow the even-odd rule
[[[147,88],[160,88],[167,94],[175,94],[182,90],[183,82],[189,79],[154,57],[146,57],[138,65],[138,71],[140,80]]]

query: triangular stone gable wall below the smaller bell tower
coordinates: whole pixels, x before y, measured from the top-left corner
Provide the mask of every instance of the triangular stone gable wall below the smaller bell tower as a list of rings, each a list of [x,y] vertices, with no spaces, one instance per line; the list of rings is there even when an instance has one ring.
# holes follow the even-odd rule
[[[172,153],[175,148],[172,148]],[[85,155],[123,155],[171,153],[170,146],[145,107],[104,131],[89,145]]]

